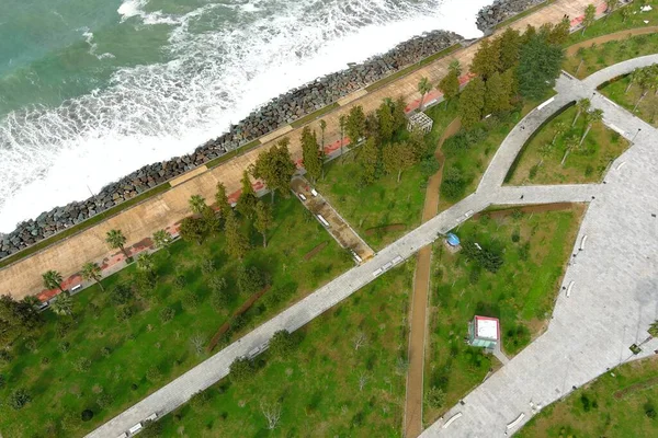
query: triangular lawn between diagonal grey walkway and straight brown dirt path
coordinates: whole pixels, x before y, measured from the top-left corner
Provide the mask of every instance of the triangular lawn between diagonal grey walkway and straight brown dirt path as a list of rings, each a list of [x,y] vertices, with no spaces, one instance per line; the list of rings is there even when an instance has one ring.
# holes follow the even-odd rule
[[[225,379],[207,390],[205,404],[162,418],[162,436],[399,436],[413,267],[408,262],[387,273],[303,327],[292,354],[259,357],[248,381]],[[361,334],[367,341],[355,349]],[[261,405],[276,401],[281,420],[268,430]]]

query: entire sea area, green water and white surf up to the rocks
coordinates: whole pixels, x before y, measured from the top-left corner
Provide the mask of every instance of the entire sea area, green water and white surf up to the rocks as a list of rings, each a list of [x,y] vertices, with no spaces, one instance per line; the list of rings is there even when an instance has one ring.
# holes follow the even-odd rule
[[[492,0],[4,0],[0,232]]]

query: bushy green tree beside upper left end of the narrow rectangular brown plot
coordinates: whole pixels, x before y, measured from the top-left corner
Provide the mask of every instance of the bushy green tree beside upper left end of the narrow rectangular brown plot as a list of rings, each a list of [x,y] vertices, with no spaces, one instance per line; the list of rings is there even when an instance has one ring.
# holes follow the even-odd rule
[[[253,166],[253,176],[262,178],[265,182],[272,192],[272,201],[274,200],[275,192],[280,192],[286,197],[288,196],[291,180],[297,171],[297,166],[291,158],[288,143],[290,140],[285,137],[270,148],[269,151],[261,152],[256,159]]]

